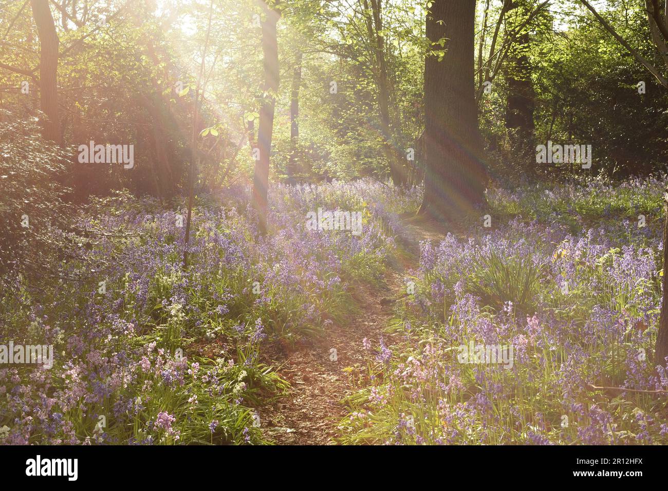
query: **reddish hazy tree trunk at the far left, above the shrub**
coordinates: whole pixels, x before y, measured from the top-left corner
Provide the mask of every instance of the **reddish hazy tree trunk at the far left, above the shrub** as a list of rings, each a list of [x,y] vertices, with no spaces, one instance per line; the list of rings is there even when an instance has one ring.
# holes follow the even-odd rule
[[[30,0],[39,37],[39,104],[42,136],[57,144],[63,143],[58,110],[58,35],[49,9],[49,0]]]

